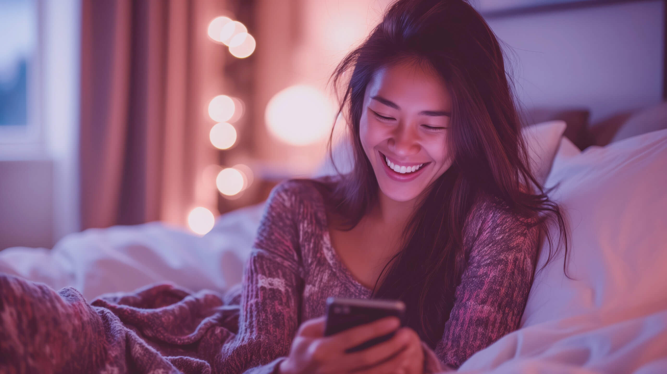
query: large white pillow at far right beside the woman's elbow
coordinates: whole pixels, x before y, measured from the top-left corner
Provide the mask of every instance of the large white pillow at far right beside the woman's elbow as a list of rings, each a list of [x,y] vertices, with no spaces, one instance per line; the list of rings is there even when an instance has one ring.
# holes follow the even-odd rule
[[[568,213],[563,258],[536,275],[522,327],[596,309],[641,308],[667,295],[667,130],[589,147],[554,162],[546,187]],[[539,267],[546,259],[542,247]]]

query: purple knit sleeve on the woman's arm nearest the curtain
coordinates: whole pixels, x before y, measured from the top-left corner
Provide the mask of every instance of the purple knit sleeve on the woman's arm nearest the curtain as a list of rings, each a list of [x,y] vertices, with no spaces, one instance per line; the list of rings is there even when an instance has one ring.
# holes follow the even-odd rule
[[[271,191],[243,273],[239,331],[223,347],[236,373],[274,373],[299,325],[299,204],[295,182]],[[230,371],[231,372],[231,371]]]

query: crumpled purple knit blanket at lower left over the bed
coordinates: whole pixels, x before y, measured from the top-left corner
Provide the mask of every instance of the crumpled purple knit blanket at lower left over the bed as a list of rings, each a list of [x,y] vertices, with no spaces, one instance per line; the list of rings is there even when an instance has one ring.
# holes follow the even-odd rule
[[[0,373],[238,373],[212,365],[235,338],[239,301],[239,288],[161,283],[87,303],[71,287],[0,274]]]

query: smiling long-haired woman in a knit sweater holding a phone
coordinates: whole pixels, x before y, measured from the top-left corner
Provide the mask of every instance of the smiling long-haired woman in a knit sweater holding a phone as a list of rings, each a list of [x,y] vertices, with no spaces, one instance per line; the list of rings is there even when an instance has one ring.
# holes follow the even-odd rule
[[[564,232],[526,166],[502,51],[468,3],[400,0],[333,81],[344,77],[354,169],[273,191],[243,299],[283,311],[265,322],[283,342],[304,321],[279,373],[456,368],[518,328],[542,213]],[[401,299],[408,327],[346,354],[396,321],[322,337],[312,318],[328,296]]]

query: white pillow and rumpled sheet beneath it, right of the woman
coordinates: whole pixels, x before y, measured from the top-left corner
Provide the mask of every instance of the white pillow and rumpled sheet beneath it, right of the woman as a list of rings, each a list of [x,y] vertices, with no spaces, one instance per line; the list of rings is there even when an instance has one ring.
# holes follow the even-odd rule
[[[667,373],[667,130],[578,155],[568,148],[546,184],[556,182],[574,280],[562,257],[538,273],[522,329],[460,371]]]

